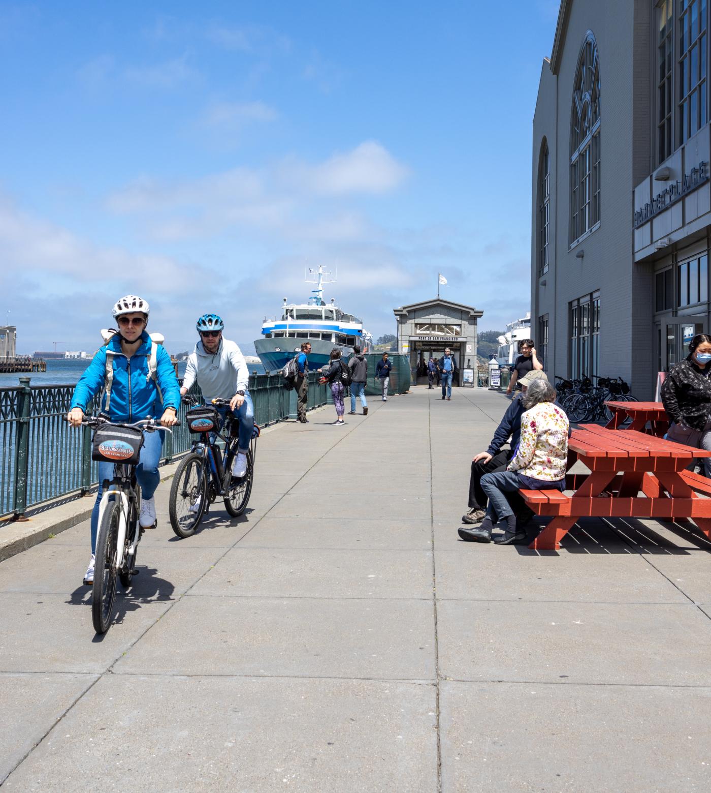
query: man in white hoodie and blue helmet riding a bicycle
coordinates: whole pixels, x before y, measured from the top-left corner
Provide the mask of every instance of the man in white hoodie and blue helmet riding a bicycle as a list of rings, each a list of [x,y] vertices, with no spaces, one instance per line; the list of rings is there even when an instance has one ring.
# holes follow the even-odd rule
[[[254,431],[254,406],[247,385],[250,373],[242,352],[234,342],[222,338],[224,322],[216,314],[203,314],[197,320],[201,340],[189,355],[180,393],[185,396],[197,381],[206,403],[213,399],[230,400],[230,410],[239,418],[237,455],[232,476],[247,473],[247,449]],[[217,408],[227,415],[227,408]]]

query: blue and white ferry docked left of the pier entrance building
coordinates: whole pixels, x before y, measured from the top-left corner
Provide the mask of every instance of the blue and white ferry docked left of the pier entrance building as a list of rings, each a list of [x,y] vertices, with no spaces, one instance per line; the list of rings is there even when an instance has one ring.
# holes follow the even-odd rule
[[[316,285],[308,302],[289,303],[285,297],[281,316],[267,316],[262,322],[262,338],[254,341],[254,349],[266,371],[275,372],[286,366],[307,339],[312,347],[308,355],[308,368],[312,371],[327,364],[334,347],[347,358],[356,346],[362,352],[373,346],[373,336],[364,330],[361,319],[339,308],[333,297],[328,304],[323,301],[323,284],[335,280],[331,274],[322,265],[308,272],[314,278],[307,278],[306,282]]]

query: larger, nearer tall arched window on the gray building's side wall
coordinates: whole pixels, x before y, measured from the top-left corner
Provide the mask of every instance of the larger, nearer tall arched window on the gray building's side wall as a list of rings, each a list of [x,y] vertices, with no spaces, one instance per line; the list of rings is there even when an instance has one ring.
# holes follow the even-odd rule
[[[587,32],[575,71],[571,113],[571,243],[600,222],[600,69]]]

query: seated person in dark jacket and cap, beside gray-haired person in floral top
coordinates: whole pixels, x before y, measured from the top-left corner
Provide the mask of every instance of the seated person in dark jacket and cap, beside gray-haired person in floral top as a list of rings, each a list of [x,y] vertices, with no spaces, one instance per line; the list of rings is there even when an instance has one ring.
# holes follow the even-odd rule
[[[519,381],[521,391],[514,396],[508,408],[506,408],[506,413],[504,413],[499,427],[496,427],[494,438],[491,440],[489,448],[477,454],[473,459],[472,473],[469,477],[469,510],[465,515],[462,515],[464,523],[481,523],[484,520],[488,499],[484,488],[481,486],[481,477],[486,473],[505,471],[510,459],[514,456],[514,451],[521,439],[521,416],[526,410],[521,397],[526,394],[529,385],[536,380],[548,382],[548,377],[545,376],[544,372],[534,370],[521,378]],[[558,403],[556,402],[556,404]],[[560,405],[558,407],[560,408]],[[509,438],[510,448],[504,449],[503,446]],[[518,522],[522,525],[528,523],[534,515],[533,510],[526,507],[526,502],[518,493],[507,493],[507,497],[511,508],[518,518]],[[470,531],[472,530],[460,529],[459,534],[462,539],[471,539],[468,536]]]

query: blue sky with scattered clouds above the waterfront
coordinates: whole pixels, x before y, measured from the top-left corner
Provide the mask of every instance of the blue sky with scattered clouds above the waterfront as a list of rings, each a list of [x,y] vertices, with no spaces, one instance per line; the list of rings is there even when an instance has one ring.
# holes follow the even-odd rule
[[[171,351],[250,351],[304,260],[374,335],[529,308],[531,121],[557,0],[0,2],[0,321],[93,350],[124,293]]]

